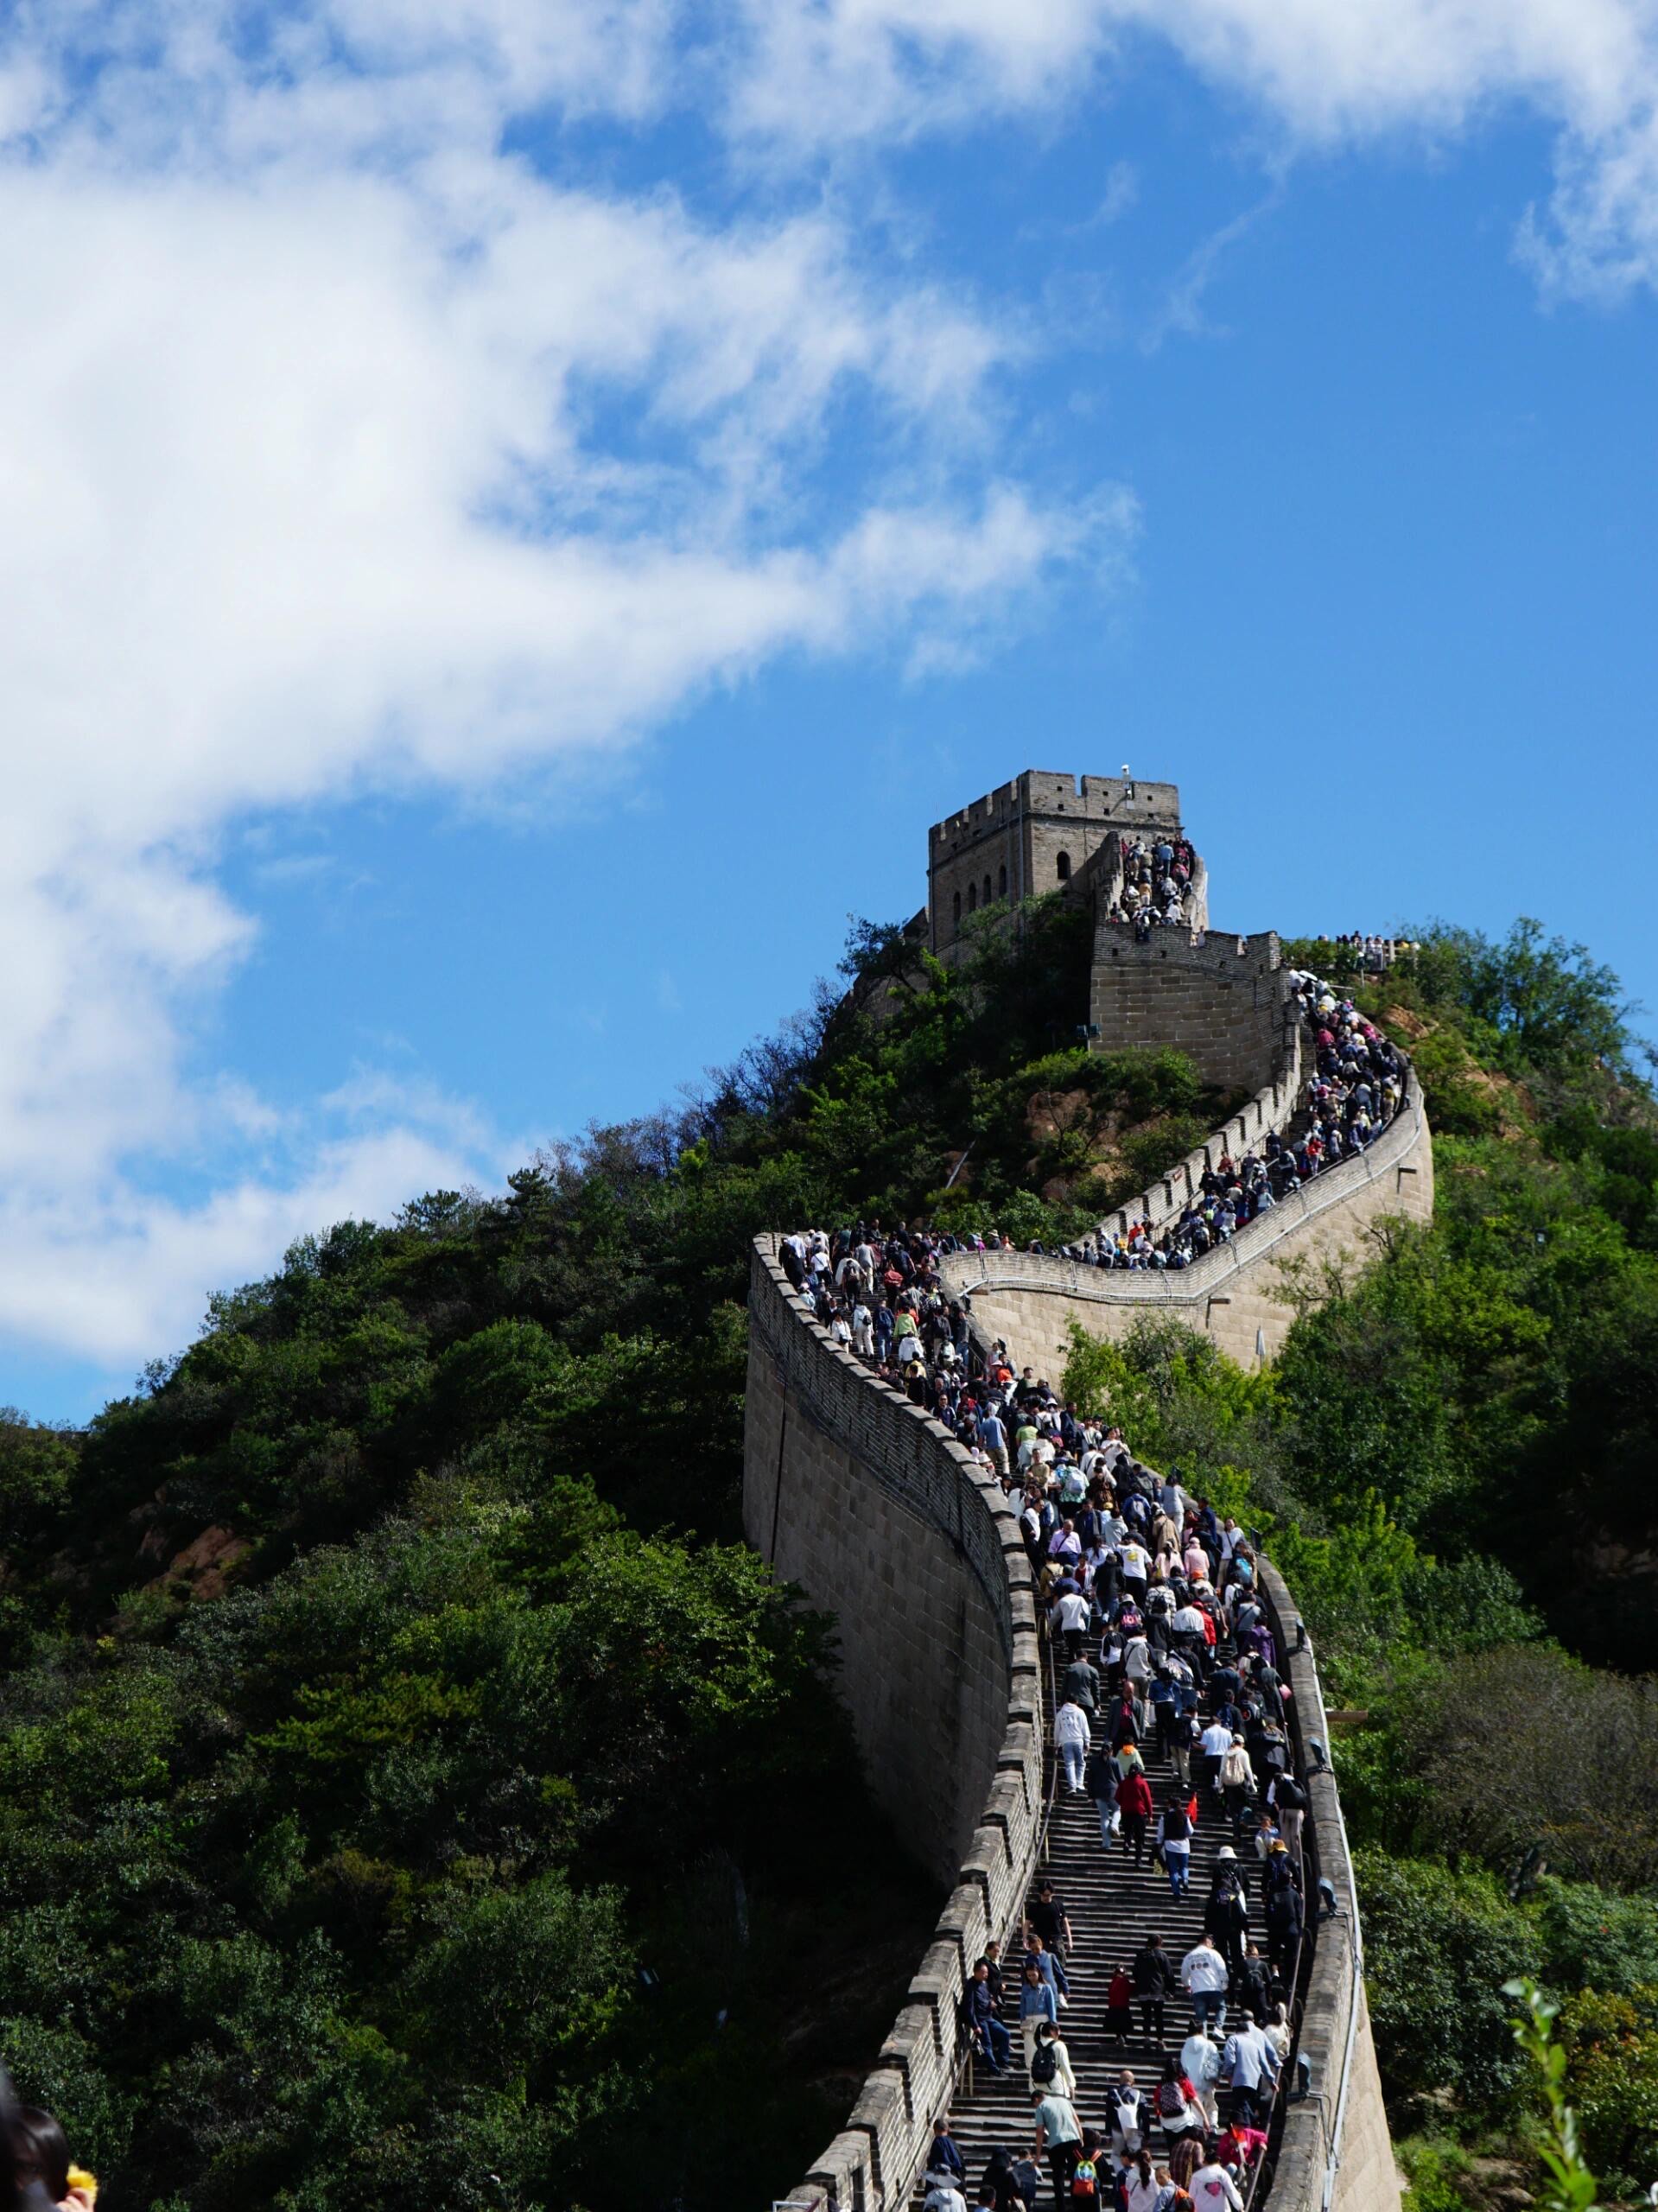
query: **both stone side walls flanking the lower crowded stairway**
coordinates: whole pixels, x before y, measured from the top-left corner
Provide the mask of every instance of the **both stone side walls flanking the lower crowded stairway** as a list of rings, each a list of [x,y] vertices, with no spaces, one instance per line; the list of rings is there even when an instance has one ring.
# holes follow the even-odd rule
[[[946,1891],[844,2128],[780,2192],[800,2212],[911,2203],[964,2066],[957,2015],[988,1940],[1010,1944],[1043,1851],[1043,1674],[1030,1564],[999,1482],[818,1325],[758,1237],[749,1270],[743,1520],[778,1575],[840,1626],[840,1686],[869,1781]],[[1311,2093],[1276,2130],[1271,2212],[1397,2212],[1364,2011],[1362,1938],[1322,1692],[1282,1579],[1262,1595],[1307,1774],[1311,1922],[1298,2053]],[[807,1809],[811,1816],[811,1809]]]

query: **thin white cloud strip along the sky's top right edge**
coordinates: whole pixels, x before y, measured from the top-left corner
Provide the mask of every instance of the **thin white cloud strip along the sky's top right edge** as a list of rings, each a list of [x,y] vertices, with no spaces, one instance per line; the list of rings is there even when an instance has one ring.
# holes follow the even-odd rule
[[[1253,102],[1287,148],[1382,133],[1450,137],[1501,108],[1554,126],[1556,190],[1514,210],[1554,292],[1658,283],[1654,0],[743,0],[730,122],[818,153],[1046,115],[1132,84],[1136,42],[1172,44]]]

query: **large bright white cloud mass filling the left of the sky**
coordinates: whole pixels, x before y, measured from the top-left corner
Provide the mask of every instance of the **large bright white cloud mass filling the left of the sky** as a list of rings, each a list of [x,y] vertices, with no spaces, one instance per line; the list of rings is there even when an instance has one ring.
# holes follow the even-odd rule
[[[648,113],[665,27],[338,0],[250,53],[69,4],[0,44],[0,1332],[139,1358],[298,1228],[506,1164],[382,1075],[276,1113],[199,1073],[234,823],[615,752],[1081,553],[986,471],[1008,341],[844,219],[500,150],[544,102]],[[829,522],[794,487],[844,414]]]

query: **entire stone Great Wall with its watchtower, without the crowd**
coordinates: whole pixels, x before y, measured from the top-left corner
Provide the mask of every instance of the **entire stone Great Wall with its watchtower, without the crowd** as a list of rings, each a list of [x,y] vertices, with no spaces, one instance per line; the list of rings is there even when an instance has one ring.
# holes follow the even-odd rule
[[[1289,1018],[1278,938],[1209,929],[1200,860],[1183,927],[1158,927],[1145,940],[1112,920],[1127,838],[1178,834],[1178,825],[1174,785],[1026,772],[933,827],[928,907],[911,925],[911,936],[948,962],[966,918],[984,905],[1006,905],[1017,925],[1030,896],[1088,898],[1096,918],[1085,1009],[1094,1042],[1178,1044],[1209,1079],[1253,1086],[1207,1146],[1123,1210],[1123,1228],[1178,1212],[1229,1146],[1284,1130],[1302,1091],[1302,1037]],[[1276,1354],[1293,1318],[1287,1261],[1340,1261],[1362,1252],[1379,1219],[1430,1212],[1433,1141],[1408,1077],[1368,1150],[1183,1272],[957,1252],[944,1274],[955,1296],[970,1298],[975,1336],[1001,1338],[1017,1363],[1039,1369],[1063,1358],[1072,1321],[1121,1336],[1145,1312],[1172,1314],[1253,1363]],[[1187,1942],[1192,1916],[1156,1896],[1161,1882],[1136,1893],[1130,1913],[1116,1874],[1094,1867],[1103,1869],[1105,1854],[1092,1818],[1077,1847],[1074,1809],[1054,1798],[1046,1776],[1048,1655],[1015,1509],[937,1420],[814,1318],[778,1261],[776,1234],[756,1239],[752,1254],[743,1517],[749,1544],[774,1571],[838,1617],[840,1688],[871,1785],[906,1849],[946,1891],[933,1942],[842,2130],[778,2192],[778,2203],[800,2212],[895,2212],[915,2197],[935,2117],[966,2108],[984,2115],[986,2141],[1030,2137],[1028,2106],[997,2104],[988,2084],[973,2081],[959,2002],[984,1944],[1017,1931],[1037,1869],[1063,1867],[1068,1887],[1077,1885],[1072,1869],[1085,1869],[1099,1905],[1090,1922],[1096,1944],[1110,1933],[1121,1947],[1141,1927],[1161,1924]],[[1309,1792],[1309,1916],[1291,2015],[1300,2066],[1287,2068],[1293,2086],[1278,2099],[1269,2168],[1249,2212],[1265,2201],[1271,2212],[1397,2212],[1315,1657],[1269,1562],[1262,1584],[1293,1692],[1295,1767]],[[1119,1920],[1130,1924],[1119,1931]],[[1088,2017],[1099,1971],[1090,1960],[1079,1973]],[[1072,2026],[1079,2081],[1096,2101],[1103,2062],[1088,2033],[1083,2022]]]

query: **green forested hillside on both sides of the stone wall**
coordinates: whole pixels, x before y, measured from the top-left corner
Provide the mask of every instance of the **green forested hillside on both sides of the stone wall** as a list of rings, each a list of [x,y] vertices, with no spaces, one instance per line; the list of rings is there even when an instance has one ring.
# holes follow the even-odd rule
[[[1265,1374],[1147,1327],[1068,1380],[1267,1531],[1366,1717],[1377,2046],[1448,2212],[1525,2181],[1514,1973],[1601,2172],[1658,2174],[1658,1113],[1587,953],[1413,936],[1357,991],[1433,1228],[1298,1281]],[[111,2212],[714,2212],[833,2132],[935,1898],[741,1544],[747,1241],[1145,1188],[1234,1099],[1090,1057],[1088,956],[1059,900],[948,973],[858,925],[672,1110],[305,1239],[86,1431],[0,1425],[0,2051]]]

